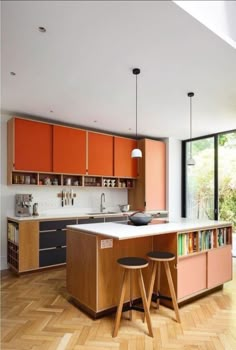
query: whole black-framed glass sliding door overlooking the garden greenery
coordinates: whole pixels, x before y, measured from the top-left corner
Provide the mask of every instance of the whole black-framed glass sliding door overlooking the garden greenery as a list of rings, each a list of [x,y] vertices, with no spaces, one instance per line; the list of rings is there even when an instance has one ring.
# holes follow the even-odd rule
[[[187,218],[226,220],[236,230],[236,131],[183,143],[183,206]]]

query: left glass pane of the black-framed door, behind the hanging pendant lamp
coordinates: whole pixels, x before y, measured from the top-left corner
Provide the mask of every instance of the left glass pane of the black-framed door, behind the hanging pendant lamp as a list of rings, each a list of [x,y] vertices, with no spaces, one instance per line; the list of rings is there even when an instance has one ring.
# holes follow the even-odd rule
[[[191,143],[186,143],[186,162]],[[214,138],[192,141],[195,165],[186,165],[186,216],[192,219],[214,219]]]

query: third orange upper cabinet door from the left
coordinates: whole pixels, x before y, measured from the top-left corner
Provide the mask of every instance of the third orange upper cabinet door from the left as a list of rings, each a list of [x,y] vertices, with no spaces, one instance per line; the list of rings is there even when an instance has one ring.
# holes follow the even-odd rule
[[[88,132],[88,175],[113,176],[113,136]]]

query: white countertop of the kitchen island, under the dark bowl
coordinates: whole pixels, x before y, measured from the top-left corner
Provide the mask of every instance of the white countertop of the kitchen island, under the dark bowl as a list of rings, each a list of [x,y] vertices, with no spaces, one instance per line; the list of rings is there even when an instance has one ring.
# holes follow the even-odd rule
[[[156,219],[163,220],[163,219]],[[172,232],[184,232],[199,230],[201,228],[214,228],[216,226],[231,226],[228,221],[214,221],[214,220],[190,220],[190,219],[174,219],[169,223],[164,224],[149,224],[145,226],[125,225],[122,223],[94,223],[83,225],[68,225],[67,229],[90,232],[92,234],[116,238],[119,240],[140,238],[146,236],[160,235]]]

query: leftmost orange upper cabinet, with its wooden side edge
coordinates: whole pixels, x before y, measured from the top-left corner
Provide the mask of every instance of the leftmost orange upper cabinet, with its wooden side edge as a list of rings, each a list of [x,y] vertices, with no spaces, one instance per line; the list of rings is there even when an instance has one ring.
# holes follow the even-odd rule
[[[8,124],[9,134],[14,170],[52,171],[51,124],[14,118]]]

